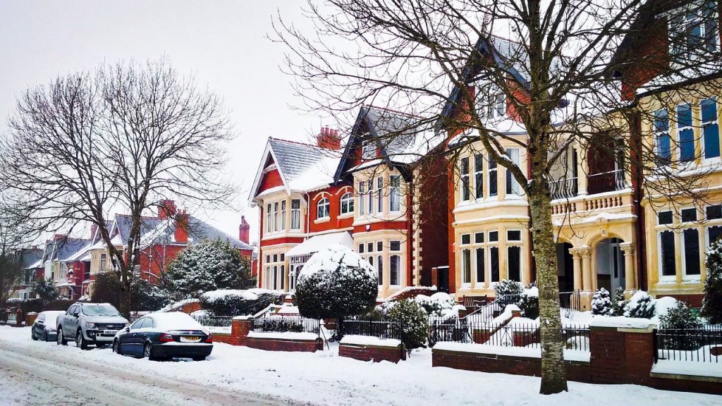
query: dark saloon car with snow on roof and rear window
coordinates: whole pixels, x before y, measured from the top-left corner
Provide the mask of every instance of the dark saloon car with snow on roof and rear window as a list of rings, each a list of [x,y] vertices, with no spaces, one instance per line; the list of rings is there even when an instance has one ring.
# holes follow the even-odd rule
[[[150,360],[193,358],[204,360],[213,350],[211,333],[188,314],[152,313],[122,329],[113,351]]]

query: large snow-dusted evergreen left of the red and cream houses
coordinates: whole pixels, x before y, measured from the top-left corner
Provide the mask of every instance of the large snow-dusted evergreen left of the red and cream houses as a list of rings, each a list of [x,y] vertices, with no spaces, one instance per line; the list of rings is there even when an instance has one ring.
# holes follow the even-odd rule
[[[163,273],[163,286],[173,298],[199,298],[219,289],[248,289],[256,285],[248,259],[228,241],[203,240],[187,246]]]

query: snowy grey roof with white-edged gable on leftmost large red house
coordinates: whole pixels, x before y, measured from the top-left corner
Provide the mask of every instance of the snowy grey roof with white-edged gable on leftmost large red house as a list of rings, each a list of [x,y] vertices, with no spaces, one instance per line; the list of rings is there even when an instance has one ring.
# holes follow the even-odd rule
[[[333,174],[340,159],[338,153],[333,150],[269,137],[261,159],[263,164],[258,167],[251,187],[249,202],[258,195],[258,187],[266,173],[264,169],[269,157],[276,165],[283,181],[283,188],[288,194],[291,191],[308,191],[329,186],[334,181]]]

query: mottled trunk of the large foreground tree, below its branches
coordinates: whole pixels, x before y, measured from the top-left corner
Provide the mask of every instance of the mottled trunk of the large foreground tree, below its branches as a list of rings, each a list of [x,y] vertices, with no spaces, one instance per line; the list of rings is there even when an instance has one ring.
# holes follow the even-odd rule
[[[533,165],[534,166],[534,165]],[[567,390],[564,342],[557,280],[557,249],[552,225],[551,195],[543,176],[537,174],[529,188],[531,238],[534,241],[536,282],[539,285],[539,321],[541,326],[541,394]]]

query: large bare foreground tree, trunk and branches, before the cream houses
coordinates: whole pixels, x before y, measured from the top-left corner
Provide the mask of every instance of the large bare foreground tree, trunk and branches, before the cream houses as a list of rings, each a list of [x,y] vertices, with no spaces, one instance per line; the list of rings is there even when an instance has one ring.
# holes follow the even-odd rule
[[[650,26],[664,12],[678,21],[685,12],[684,7],[674,11],[680,4],[692,3],[328,0],[308,2],[312,32],[281,16],[274,20],[274,40],[287,46],[286,70],[303,97],[298,108],[325,111],[342,123],[369,104],[420,116],[386,137],[432,128],[438,137],[430,137],[420,155],[440,151],[458,170],[458,152],[479,146],[516,180],[531,217],[543,394],[567,390],[551,212],[552,186],[560,181],[552,173],[568,165],[565,151],[572,144],[594,145],[606,153],[604,159],[612,159],[621,147],[624,170],[640,182],[640,190],[648,189],[645,195],[703,197],[703,171],[682,173],[677,165],[682,159],[644,142],[638,126],[652,121],[653,113],[635,103],[639,93],[619,88],[619,79],[644,85],[643,77],[661,75],[648,84],[659,90],[718,74],[710,67],[720,58],[718,47],[692,51],[694,57],[674,63],[664,51],[640,51],[648,44],[688,48],[689,37],[668,38],[666,20],[664,30]],[[697,14],[718,25],[716,12]],[[635,72],[642,74],[635,78]],[[656,97],[672,100],[669,92]],[[505,117],[495,114],[500,99]],[[448,147],[438,149],[438,144]],[[529,170],[504,144],[526,153]],[[667,148],[675,147],[674,140],[671,144]]]

